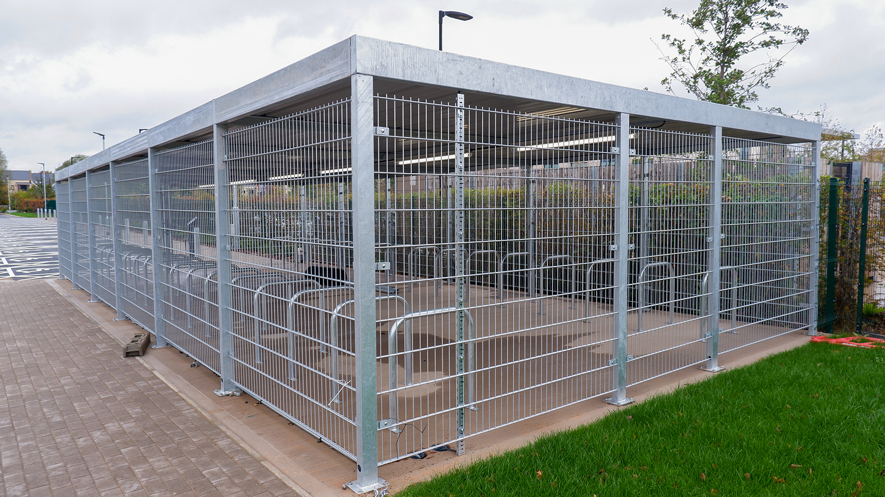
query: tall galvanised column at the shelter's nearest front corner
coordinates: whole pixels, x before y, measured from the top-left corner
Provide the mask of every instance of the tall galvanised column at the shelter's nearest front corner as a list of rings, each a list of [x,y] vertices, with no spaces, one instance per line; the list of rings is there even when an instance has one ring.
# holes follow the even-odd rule
[[[378,478],[378,369],[375,346],[375,158],[372,76],[350,76],[350,143],[353,169],[353,293],[356,347],[357,479],[355,493],[387,486]]]

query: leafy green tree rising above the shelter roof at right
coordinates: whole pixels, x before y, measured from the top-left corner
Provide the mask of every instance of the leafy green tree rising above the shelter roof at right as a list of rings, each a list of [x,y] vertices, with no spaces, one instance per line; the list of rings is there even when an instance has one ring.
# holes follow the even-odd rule
[[[670,93],[679,83],[699,100],[749,109],[747,103],[758,101],[756,90],[769,88],[783,58],[808,39],[807,29],[773,22],[786,8],[776,0],[701,0],[691,15],[664,9],[667,17],[691,28],[695,39],[661,35],[675,50],[667,55],[658,47],[672,70],[661,84]],[[781,47],[789,50],[781,57],[770,55],[769,50]],[[767,61],[738,66],[743,57],[760,50],[758,55],[765,54]]]

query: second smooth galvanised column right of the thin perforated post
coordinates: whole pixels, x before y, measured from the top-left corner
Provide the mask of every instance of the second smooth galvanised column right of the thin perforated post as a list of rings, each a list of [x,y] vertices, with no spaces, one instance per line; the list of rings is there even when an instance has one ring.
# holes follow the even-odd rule
[[[716,372],[725,368],[719,365],[719,315],[720,280],[722,267],[722,126],[712,126],[712,174],[710,175],[710,233],[707,244],[710,255],[707,258],[707,271],[710,274],[707,291],[707,361],[700,369]]]

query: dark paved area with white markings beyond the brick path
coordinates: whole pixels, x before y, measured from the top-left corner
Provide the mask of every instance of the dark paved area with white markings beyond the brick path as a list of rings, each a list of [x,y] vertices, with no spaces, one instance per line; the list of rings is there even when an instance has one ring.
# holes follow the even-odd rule
[[[58,278],[55,221],[0,214],[0,281]]]

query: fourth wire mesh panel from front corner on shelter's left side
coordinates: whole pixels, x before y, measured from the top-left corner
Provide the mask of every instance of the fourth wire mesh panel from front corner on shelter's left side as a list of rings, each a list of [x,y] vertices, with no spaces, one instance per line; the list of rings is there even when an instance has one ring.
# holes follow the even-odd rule
[[[114,282],[113,216],[111,170],[89,172],[89,221],[91,223],[93,292],[111,307],[117,307]]]

